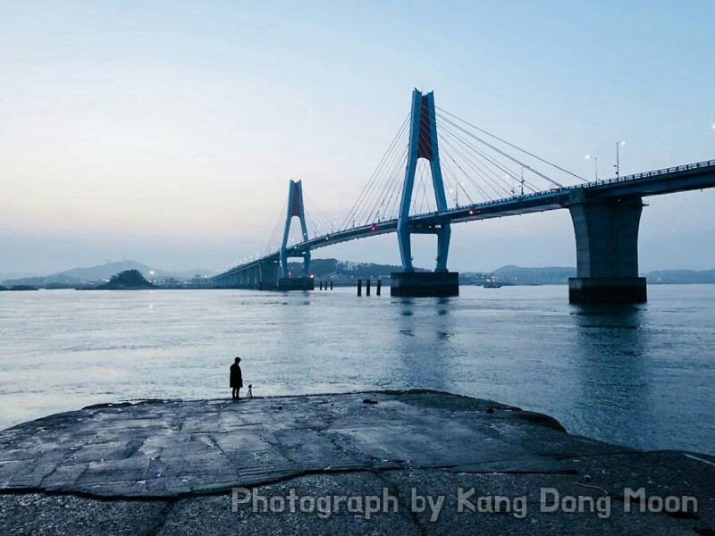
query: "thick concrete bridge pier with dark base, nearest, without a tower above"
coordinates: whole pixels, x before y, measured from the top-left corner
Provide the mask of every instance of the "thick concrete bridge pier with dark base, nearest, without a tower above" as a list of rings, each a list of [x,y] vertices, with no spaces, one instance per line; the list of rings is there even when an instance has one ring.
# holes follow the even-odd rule
[[[572,194],[568,210],[576,233],[576,277],[568,279],[572,304],[644,303],[645,278],[638,276],[641,197],[587,199]]]

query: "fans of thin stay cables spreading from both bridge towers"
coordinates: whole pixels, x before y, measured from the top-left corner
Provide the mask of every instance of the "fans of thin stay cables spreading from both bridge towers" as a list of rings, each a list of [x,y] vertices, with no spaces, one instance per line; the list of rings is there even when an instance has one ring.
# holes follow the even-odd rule
[[[302,208],[308,239],[397,220],[408,163],[410,119],[408,114],[402,121],[365,188],[340,224],[325,215],[304,192]],[[442,108],[436,108],[435,121],[448,210],[562,188],[564,182],[573,178],[587,182],[576,173],[517,147]],[[419,128],[429,128],[428,122],[420,121]],[[417,136],[418,140],[428,138]],[[418,147],[421,154],[429,152],[426,150],[428,148]],[[282,214],[266,246],[266,253],[273,253],[280,248],[286,209],[287,206],[283,205]],[[431,163],[421,158],[416,163],[409,214],[432,214],[436,211]],[[288,245],[295,246],[302,242],[304,239],[299,222],[291,222]]]

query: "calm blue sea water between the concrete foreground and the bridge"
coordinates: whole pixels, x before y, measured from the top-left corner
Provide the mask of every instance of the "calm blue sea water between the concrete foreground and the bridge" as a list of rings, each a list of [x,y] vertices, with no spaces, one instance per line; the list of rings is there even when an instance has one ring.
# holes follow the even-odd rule
[[[644,306],[569,306],[566,287],[458,298],[249,290],[0,293],[0,428],[101,402],[441,389],[552,415],[636,448],[715,454],[715,285]]]

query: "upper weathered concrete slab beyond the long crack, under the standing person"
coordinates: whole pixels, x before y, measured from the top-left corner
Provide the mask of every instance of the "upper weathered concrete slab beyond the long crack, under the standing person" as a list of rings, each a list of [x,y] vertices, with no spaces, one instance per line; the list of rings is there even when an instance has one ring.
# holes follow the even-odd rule
[[[366,404],[366,397],[379,403]],[[530,420],[546,425],[527,426]],[[534,435],[557,456],[573,452],[559,428],[543,415],[425,392],[95,406],[0,432],[0,486],[175,497],[315,471],[530,470],[543,463]],[[579,440],[579,448],[624,451],[590,440]]]

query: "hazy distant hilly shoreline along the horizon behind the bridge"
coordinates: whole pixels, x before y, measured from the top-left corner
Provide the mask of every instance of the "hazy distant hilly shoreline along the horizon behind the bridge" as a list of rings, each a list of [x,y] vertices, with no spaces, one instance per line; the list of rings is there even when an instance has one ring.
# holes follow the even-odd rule
[[[289,272],[303,272],[302,263],[289,263]],[[316,280],[332,281],[338,286],[357,284],[358,279],[378,280],[389,284],[390,273],[400,272],[401,267],[395,264],[357,263],[338,259],[313,259],[310,264],[311,274]],[[416,268],[418,272],[426,272],[425,268]],[[137,274],[122,276],[122,273],[137,272]],[[4,285],[0,290],[29,289],[207,289],[212,287],[211,272],[207,270],[191,270],[189,272],[167,272],[152,268],[136,261],[107,263],[90,268],[74,268],[46,276],[26,277],[0,281]],[[576,275],[576,268],[570,266],[522,267],[509,264],[492,272],[459,272],[461,285],[566,285],[568,278]],[[689,284],[715,283],[715,270],[660,270],[644,273],[648,284]],[[134,278],[134,279],[131,279]],[[150,285],[150,286],[147,286]]]

